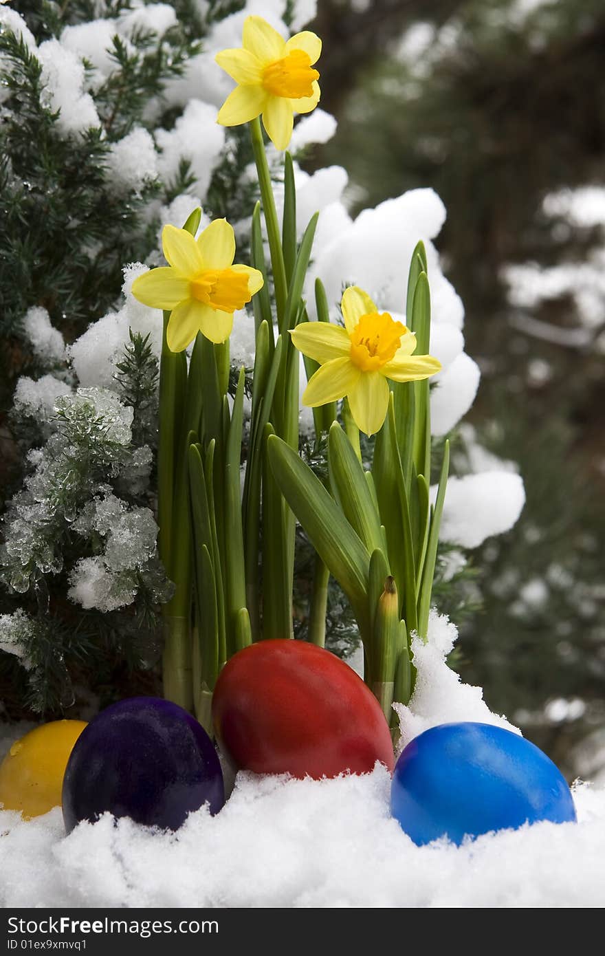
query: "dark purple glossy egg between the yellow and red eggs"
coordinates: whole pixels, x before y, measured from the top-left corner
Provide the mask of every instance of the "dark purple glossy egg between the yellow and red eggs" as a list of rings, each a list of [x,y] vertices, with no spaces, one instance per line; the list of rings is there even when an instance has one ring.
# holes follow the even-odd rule
[[[225,803],[223,772],[205,729],[183,707],[131,697],[101,710],[82,730],[63,778],[63,820],[105,812],[177,830],[191,811]]]

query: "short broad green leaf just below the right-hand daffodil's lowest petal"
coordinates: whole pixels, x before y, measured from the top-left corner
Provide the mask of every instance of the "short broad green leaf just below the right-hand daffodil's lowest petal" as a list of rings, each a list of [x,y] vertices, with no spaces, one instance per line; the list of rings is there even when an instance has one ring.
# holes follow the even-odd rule
[[[335,501],[370,554],[382,545],[378,507],[357,455],[340,425],[328,437],[328,469]]]

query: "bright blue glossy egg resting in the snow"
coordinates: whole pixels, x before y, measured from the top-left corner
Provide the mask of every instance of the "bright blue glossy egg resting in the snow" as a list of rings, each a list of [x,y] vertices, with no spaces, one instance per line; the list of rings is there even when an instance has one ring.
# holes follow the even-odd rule
[[[575,820],[570,788],[546,753],[510,730],[470,722],[430,728],[407,745],[391,810],[419,846]]]

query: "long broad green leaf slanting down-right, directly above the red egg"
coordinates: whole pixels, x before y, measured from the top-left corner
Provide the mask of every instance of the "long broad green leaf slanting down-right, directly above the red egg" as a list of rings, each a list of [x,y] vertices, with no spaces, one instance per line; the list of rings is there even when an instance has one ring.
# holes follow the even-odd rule
[[[274,435],[270,436],[267,449],[282,494],[309,535],[313,548],[350,598],[357,615],[367,600],[370,565],[367,548],[296,451]],[[361,617],[367,620],[367,610]]]

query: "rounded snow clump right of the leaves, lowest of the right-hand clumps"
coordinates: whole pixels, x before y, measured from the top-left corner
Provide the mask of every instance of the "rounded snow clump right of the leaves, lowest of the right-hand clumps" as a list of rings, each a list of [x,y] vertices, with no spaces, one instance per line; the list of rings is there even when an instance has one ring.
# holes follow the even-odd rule
[[[431,488],[434,502],[437,488]],[[525,505],[520,475],[510,471],[451,476],[447,480],[440,538],[463,548],[478,548],[493,534],[504,534]]]

